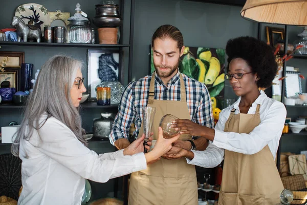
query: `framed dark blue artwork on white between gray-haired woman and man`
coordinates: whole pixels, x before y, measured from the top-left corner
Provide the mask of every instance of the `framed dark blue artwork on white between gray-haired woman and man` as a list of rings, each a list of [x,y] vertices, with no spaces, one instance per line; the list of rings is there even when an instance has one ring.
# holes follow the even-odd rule
[[[104,81],[123,84],[122,53],[110,50],[87,50],[87,90],[89,100],[96,100],[96,87]]]

